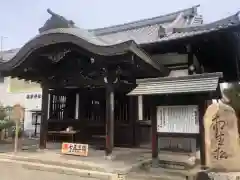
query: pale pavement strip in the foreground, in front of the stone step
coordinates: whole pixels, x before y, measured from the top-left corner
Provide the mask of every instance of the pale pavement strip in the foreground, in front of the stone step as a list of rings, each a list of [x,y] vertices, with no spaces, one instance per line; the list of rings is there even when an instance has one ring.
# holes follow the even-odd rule
[[[154,175],[150,173],[130,173],[127,176],[119,176],[113,173],[101,173],[75,168],[67,168],[56,165],[19,161],[13,159],[0,159],[1,180],[186,180],[184,177],[172,176],[166,173]]]

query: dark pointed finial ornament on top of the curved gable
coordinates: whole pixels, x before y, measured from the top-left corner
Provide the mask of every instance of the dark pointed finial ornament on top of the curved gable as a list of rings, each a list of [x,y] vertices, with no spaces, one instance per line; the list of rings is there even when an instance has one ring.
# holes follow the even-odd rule
[[[39,33],[50,29],[75,27],[72,20],[67,20],[65,17],[54,13],[51,9],[47,9],[47,12],[51,17],[45,22],[43,27],[39,28]]]

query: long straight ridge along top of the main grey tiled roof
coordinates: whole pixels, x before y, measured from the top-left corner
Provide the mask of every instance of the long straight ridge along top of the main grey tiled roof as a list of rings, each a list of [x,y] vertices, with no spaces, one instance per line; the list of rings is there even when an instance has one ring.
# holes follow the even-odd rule
[[[161,24],[164,22],[168,22],[171,20],[174,20],[179,13],[183,12],[184,16],[190,16],[190,15],[196,15],[197,14],[197,8],[200,5],[192,6],[191,8],[182,9],[176,12],[168,13],[165,15],[152,17],[152,18],[146,18],[142,20],[137,20],[129,23],[119,24],[119,25],[113,25],[103,28],[96,28],[96,29],[89,29],[90,32],[94,32],[96,35],[105,35],[110,33],[116,33],[121,31],[126,31],[130,29],[140,28],[144,26],[150,26],[154,24]]]

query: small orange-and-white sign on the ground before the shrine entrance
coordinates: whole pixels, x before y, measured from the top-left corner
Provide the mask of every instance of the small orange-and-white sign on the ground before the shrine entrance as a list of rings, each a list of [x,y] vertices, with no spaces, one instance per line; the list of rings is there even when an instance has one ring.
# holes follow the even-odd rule
[[[76,156],[88,156],[88,144],[62,143],[62,153]]]

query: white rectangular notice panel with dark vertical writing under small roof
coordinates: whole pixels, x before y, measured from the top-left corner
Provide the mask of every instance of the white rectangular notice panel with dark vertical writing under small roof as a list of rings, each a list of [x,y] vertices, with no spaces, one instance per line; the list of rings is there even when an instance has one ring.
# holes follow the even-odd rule
[[[157,131],[165,133],[199,133],[197,105],[158,106]]]

